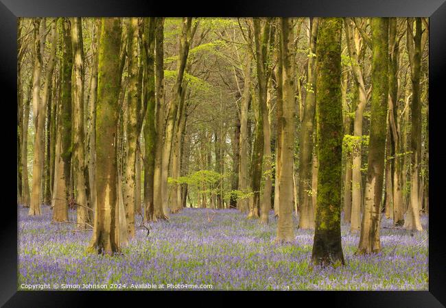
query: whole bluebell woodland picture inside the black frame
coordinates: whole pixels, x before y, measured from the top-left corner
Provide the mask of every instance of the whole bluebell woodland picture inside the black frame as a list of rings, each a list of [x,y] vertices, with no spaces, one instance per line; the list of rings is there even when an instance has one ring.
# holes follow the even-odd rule
[[[17,290],[427,291],[429,25],[17,18]]]

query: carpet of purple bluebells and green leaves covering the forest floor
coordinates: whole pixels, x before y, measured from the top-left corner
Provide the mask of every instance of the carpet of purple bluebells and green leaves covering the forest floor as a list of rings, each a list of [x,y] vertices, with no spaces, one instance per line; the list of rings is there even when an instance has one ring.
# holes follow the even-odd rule
[[[29,290],[23,283],[49,283],[50,290],[56,289],[54,284],[58,290],[67,290],[62,284],[86,290],[84,283],[106,284],[107,290],[143,283],[144,290],[153,290],[154,284],[164,284],[164,290],[172,290],[167,284],[212,285],[212,290],[428,288],[427,216],[421,218],[421,232],[382,229],[382,252],[375,255],[354,255],[359,235],[351,235],[349,226],[342,224],[345,266],[320,268],[309,262],[314,231],[296,229],[295,217],[296,241],[276,244],[277,220],[272,214],[265,226],[246,220],[236,209],[183,209],[169,222],[151,223],[150,235],[137,229],[123,254],[109,257],[86,251],[91,231],[72,232],[73,224],[50,224],[47,206],[38,217],[27,216],[22,207],[18,212],[19,290]],[[74,211],[69,216],[75,221]],[[383,218],[382,227],[391,226],[392,221]]]

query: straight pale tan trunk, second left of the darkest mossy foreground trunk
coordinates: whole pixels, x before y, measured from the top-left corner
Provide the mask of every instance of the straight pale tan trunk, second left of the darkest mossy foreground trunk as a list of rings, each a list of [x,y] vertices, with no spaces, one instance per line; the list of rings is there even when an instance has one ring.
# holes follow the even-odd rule
[[[283,73],[283,113],[282,124],[282,151],[281,172],[279,175],[279,222],[277,223],[277,242],[292,242],[293,231],[293,166],[294,166],[294,117],[296,105],[294,103],[294,76],[292,75],[292,22],[290,18],[280,19],[281,27],[281,62]]]

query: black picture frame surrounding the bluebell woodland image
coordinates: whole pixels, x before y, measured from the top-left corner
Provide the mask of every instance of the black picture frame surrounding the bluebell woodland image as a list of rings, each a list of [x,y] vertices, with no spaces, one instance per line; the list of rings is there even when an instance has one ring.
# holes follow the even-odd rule
[[[160,3],[162,5],[160,5]],[[441,158],[443,135],[441,107],[445,102],[443,80],[446,71],[446,3],[445,0],[226,0],[220,3],[167,3],[165,1],[119,0],[0,0],[0,78],[1,106],[8,107],[1,118],[3,136],[2,222],[0,223],[0,304],[3,307],[89,307],[92,296],[118,303],[145,297],[138,305],[172,303],[171,292],[23,292],[17,291],[17,221],[14,199],[16,167],[12,162],[16,148],[16,18],[34,16],[429,16],[430,17],[430,245],[429,291],[426,292],[175,292],[183,304],[211,306],[236,303],[234,296],[273,299],[283,296],[290,302],[282,305],[312,305],[325,301],[329,307],[445,307],[446,252],[443,229],[445,206],[442,205]],[[5,95],[6,94],[6,95]],[[15,127],[15,129],[12,129]],[[438,142],[439,141],[439,142]],[[8,160],[6,160],[8,159]],[[5,168],[8,167],[8,168]],[[10,188],[8,186],[11,186]],[[157,304],[153,297],[157,297]],[[196,296],[206,296],[197,300]],[[161,297],[161,298],[158,298]],[[285,299],[283,298],[283,299]],[[305,304],[305,302],[307,304]],[[163,304],[164,303],[164,304]],[[251,302],[252,303],[252,302]],[[286,304],[285,304],[286,303]],[[183,305],[180,304],[180,305]],[[168,305],[168,304],[167,304]]]

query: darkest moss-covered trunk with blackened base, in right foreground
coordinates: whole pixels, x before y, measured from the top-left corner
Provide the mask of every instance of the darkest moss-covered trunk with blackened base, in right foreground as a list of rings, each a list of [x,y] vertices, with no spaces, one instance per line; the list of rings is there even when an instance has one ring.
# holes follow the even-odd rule
[[[318,195],[312,262],[344,264],[341,243],[342,19],[321,18],[316,48]],[[280,217],[280,216],[279,216]]]

